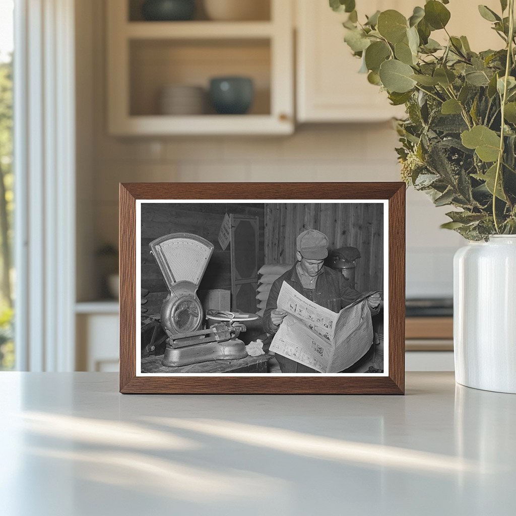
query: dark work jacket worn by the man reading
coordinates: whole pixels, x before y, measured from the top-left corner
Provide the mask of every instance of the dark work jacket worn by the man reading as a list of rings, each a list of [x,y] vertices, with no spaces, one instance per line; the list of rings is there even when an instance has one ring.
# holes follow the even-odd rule
[[[362,296],[360,292],[349,286],[348,281],[341,272],[337,272],[326,266],[322,267],[322,272],[317,276],[315,288],[304,288],[299,279],[296,267],[297,263],[292,269],[287,270],[281,275],[270,287],[267,308],[263,314],[263,327],[267,333],[276,333],[278,331],[278,326],[274,326],[270,320],[270,313],[272,310],[278,308],[278,296],[284,281],[295,288],[296,291],[305,298],[336,313]],[[379,312],[380,306],[378,305],[378,308],[370,310],[371,313],[375,315]]]

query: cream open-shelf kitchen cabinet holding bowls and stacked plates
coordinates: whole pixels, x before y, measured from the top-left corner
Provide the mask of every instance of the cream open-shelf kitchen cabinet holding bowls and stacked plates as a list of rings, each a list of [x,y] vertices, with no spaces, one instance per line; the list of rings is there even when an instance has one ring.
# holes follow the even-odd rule
[[[140,0],[110,0],[107,9],[107,110],[111,135],[251,135],[294,131],[292,4],[269,3],[268,20],[144,21]],[[207,90],[214,76],[253,79],[248,114],[163,115],[168,85]]]

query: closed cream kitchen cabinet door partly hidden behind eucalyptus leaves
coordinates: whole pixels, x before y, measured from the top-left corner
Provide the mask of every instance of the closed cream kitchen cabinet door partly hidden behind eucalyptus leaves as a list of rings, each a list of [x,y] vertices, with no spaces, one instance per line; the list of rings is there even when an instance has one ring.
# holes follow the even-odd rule
[[[404,117],[403,106],[391,106],[385,92],[369,84],[358,73],[361,62],[344,43],[342,22],[346,13],[335,13],[327,1],[296,1],[296,111],[303,122],[374,122]],[[482,2],[498,12],[498,0]],[[376,10],[396,9],[409,17],[416,0],[357,0],[359,20]],[[503,42],[480,17],[477,5],[454,0],[446,6],[451,12],[450,34],[465,35],[472,50],[502,48]],[[443,30],[432,38],[443,42]]]

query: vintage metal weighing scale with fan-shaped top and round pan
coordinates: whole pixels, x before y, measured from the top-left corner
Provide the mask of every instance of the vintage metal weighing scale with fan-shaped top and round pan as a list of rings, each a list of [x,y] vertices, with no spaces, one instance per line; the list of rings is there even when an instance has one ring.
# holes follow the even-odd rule
[[[168,336],[162,364],[179,367],[247,357],[245,345],[237,337],[246,331],[242,321],[256,319],[254,314],[209,310],[210,326],[203,328],[197,289],[213,254],[213,244],[197,235],[172,233],[149,246],[170,291],[161,309],[161,324]]]

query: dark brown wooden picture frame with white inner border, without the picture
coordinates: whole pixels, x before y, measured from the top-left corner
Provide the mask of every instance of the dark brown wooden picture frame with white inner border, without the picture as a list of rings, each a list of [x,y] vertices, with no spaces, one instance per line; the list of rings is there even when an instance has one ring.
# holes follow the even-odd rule
[[[137,203],[383,202],[385,285],[388,285],[388,370],[378,375],[137,374],[140,331]],[[217,202],[217,201],[214,201]],[[286,205],[286,204],[285,204]],[[404,394],[405,184],[385,183],[124,183],[120,184],[120,392],[123,394]],[[140,269],[138,269],[140,270]]]

